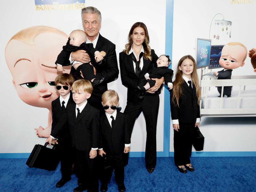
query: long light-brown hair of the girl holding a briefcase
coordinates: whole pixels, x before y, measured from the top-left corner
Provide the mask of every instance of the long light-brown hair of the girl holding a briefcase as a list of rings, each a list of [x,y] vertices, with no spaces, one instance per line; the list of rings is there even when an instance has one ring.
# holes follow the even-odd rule
[[[196,88],[197,104],[199,105],[199,101],[200,101],[200,98],[201,98],[201,89],[200,89],[200,86],[199,86],[198,76],[197,76],[197,64],[195,63],[195,59],[191,55],[183,56],[178,62],[177,71],[176,71],[176,75],[175,75],[175,81],[173,82],[172,102],[175,103],[174,101],[176,100],[177,105],[179,106],[179,98],[182,95],[181,85],[184,82],[184,79],[182,78],[182,71],[179,69],[179,66],[181,66],[182,62],[185,59],[190,59],[191,61],[193,61],[194,67],[193,67],[193,72],[191,73],[191,80],[192,80],[192,82],[193,82],[193,84],[195,85],[195,88]]]

